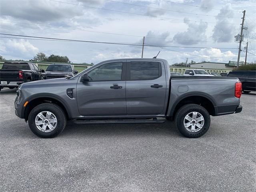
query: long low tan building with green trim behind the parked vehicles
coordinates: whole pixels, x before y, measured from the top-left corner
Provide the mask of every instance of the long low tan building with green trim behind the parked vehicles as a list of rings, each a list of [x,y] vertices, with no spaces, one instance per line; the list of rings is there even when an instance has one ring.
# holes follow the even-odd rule
[[[46,70],[46,68],[48,67],[49,64],[45,64],[45,63],[36,63],[39,69],[44,69]],[[71,63],[72,64],[72,63]],[[2,68],[3,63],[0,62],[0,68]],[[88,67],[90,67],[89,65],[86,64],[73,64],[75,70],[78,70],[78,72],[81,72],[85,69],[87,69]],[[170,71],[171,72],[179,72],[181,74],[184,74],[186,69],[191,69],[190,67],[174,67],[174,66],[170,66]],[[196,69],[196,68],[195,68]],[[199,68],[198,68],[199,69]],[[202,68],[200,68],[202,69]],[[227,69],[204,69],[207,72],[217,72],[217,73],[227,73],[230,72],[232,70],[227,70]]]

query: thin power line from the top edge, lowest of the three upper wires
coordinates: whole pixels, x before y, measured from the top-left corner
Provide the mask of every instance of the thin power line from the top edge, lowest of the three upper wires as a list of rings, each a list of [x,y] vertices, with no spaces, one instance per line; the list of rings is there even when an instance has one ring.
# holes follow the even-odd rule
[[[111,9],[106,9],[106,8],[92,7],[92,6],[86,6],[86,5],[81,5],[81,4],[74,4],[74,3],[56,1],[56,0],[49,0],[49,1],[65,3],[65,4],[70,4],[70,5],[76,5],[76,6],[83,6],[83,7],[88,7],[88,8],[100,9],[100,10],[106,10],[106,11],[113,11],[113,12],[118,12],[118,13],[126,13],[126,14],[140,15],[140,16],[148,16],[148,17],[161,18],[161,19],[180,20],[180,21],[183,21],[183,22],[187,21],[187,22],[200,22],[200,23],[238,25],[237,23],[206,22],[206,21],[195,21],[195,20],[184,20],[184,19],[177,19],[177,18],[169,18],[169,17],[159,17],[159,16],[152,16],[152,15],[146,15],[146,14],[140,14],[140,13],[131,13],[131,12],[125,12],[125,11],[111,10]]]

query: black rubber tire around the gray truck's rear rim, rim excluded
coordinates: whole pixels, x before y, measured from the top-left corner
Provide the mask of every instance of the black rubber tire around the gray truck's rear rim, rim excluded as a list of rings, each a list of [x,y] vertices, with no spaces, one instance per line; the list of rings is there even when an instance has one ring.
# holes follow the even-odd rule
[[[203,127],[196,132],[190,132],[184,126],[184,118],[186,117],[187,114],[191,112],[199,112],[204,118]],[[211,122],[211,119],[208,111],[204,107],[197,104],[186,104],[182,106],[178,110],[175,116],[176,127],[178,128],[178,130],[183,136],[188,138],[198,138],[204,135],[210,127],[210,122]]]

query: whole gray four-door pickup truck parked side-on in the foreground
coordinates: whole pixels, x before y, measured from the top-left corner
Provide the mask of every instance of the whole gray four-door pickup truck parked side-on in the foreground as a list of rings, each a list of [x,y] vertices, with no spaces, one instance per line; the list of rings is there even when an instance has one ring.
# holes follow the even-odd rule
[[[67,120],[78,124],[162,123],[175,120],[181,134],[197,138],[210,115],[242,111],[235,77],[170,77],[162,59],[119,59],[96,64],[71,78],[21,84],[15,113],[34,134],[52,138]]]

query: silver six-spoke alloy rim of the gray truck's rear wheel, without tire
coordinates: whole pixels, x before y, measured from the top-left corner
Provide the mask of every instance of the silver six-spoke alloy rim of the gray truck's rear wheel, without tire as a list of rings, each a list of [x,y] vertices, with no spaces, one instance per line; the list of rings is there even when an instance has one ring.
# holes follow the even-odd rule
[[[183,124],[189,132],[197,132],[204,126],[204,117],[198,112],[190,112],[185,116]]]

